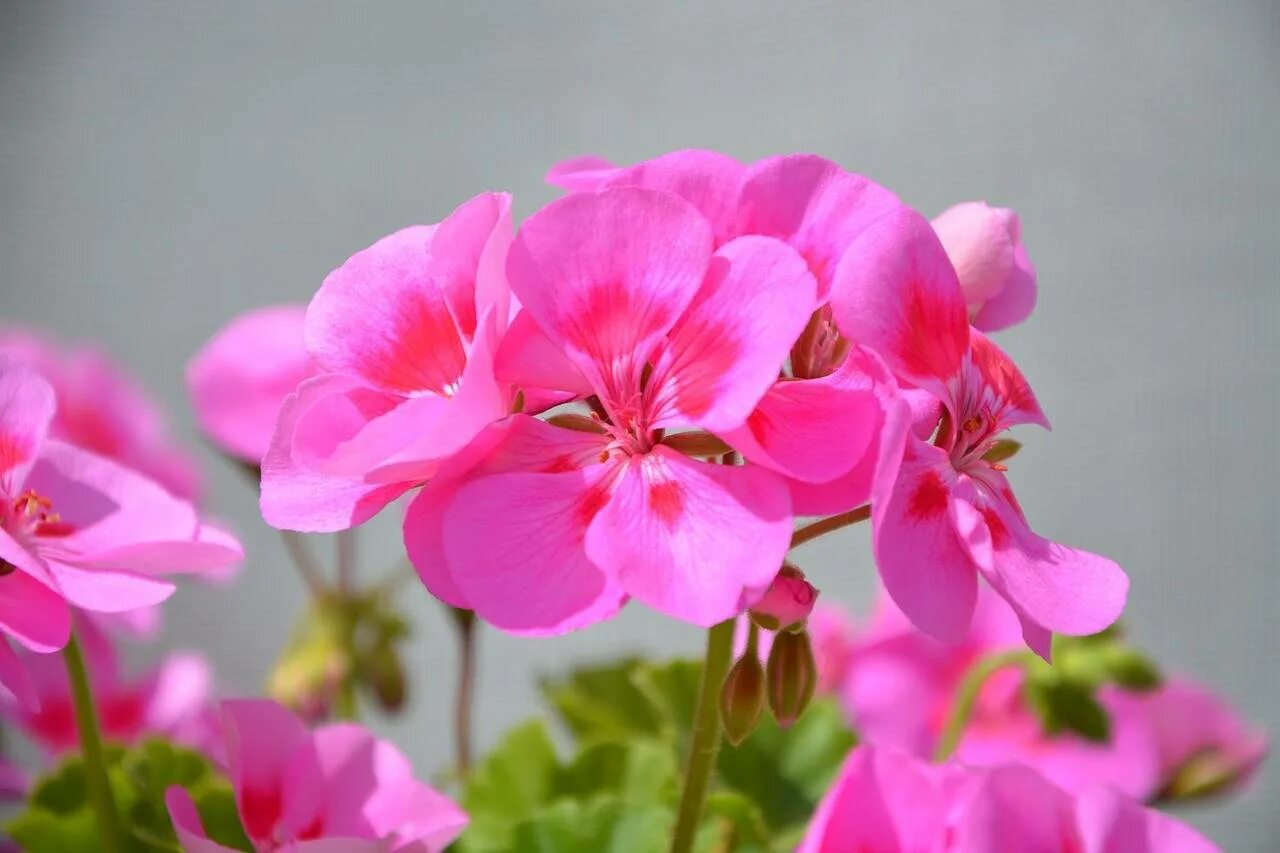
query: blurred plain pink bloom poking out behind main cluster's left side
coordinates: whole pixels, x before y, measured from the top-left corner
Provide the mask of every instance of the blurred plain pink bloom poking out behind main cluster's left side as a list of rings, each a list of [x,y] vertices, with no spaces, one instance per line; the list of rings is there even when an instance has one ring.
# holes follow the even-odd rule
[[[266,455],[284,398],[315,373],[305,316],[301,305],[241,314],[187,365],[196,419],[223,452],[253,465]]]

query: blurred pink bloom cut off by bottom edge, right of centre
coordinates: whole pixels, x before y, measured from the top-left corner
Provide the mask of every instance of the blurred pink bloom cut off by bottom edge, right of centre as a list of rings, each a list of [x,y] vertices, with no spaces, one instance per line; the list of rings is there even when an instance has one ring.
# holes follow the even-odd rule
[[[1029,767],[940,767],[860,747],[823,797],[797,853],[1215,849],[1185,824],[1106,788],[1073,797]]]

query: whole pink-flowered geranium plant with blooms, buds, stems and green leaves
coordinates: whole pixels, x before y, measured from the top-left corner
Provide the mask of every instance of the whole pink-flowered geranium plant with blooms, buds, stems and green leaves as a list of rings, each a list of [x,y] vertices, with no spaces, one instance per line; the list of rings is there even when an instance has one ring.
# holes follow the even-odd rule
[[[13,843],[1216,849],[1164,809],[1244,788],[1266,736],[1165,679],[1117,621],[1123,570],[1034,533],[1010,484],[1007,430],[1048,426],[988,337],[1036,304],[1018,215],[929,222],[813,155],[548,179],[566,193],[518,227],[477,195],[192,357],[196,419],[308,590],[264,697],[193,653],[124,675],[172,578],[244,555],[145,391],[0,333],[0,715],[47,757],[0,763]],[[366,578],[355,532],[383,512],[412,571]],[[797,552],[860,523],[861,617]],[[358,722],[442,689],[402,662],[406,583],[457,628],[433,784]],[[628,605],[705,629],[701,660],[549,678],[559,736],[534,717],[474,757],[483,626],[535,643]]]

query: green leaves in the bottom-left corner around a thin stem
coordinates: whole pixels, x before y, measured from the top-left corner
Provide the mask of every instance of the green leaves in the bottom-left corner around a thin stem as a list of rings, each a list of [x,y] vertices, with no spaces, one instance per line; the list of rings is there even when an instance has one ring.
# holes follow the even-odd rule
[[[179,849],[164,803],[173,785],[191,793],[210,838],[233,849],[252,849],[230,785],[204,756],[154,739],[131,749],[110,747],[106,761],[129,853]],[[67,758],[37,780],[26,809],[5,830],[28,853],[97,850],[97,824],[79,756]]]

